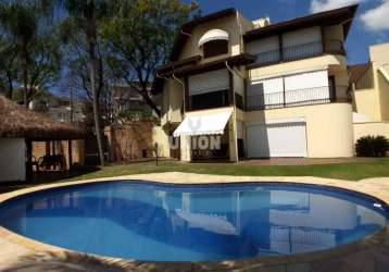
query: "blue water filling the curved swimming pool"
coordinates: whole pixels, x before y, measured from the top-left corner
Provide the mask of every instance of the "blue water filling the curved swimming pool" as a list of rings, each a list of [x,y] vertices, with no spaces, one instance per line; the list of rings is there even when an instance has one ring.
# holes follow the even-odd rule
[[[0,224],[77,251],[200,261],[293,255],[356,242],[388,223],[379,201],[281,183],[112,182],[35,193],[0,206]]]

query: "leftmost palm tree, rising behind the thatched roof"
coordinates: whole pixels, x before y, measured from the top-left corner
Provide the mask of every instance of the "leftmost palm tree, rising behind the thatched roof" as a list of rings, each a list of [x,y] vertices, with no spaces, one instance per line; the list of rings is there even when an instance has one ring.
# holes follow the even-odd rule
[[[42,18],[48,14],[48,0],[20,0],[0,2],[0,24],[2,33],[15,40],[17,58],[23,67],[23,101],[27,107],[30,45],[38,33]]]

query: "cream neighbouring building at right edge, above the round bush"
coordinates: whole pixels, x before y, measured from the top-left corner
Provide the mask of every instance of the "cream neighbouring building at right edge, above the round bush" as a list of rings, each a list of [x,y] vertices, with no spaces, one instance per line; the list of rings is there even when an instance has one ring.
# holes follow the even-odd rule
[[[389,44],[369,48],[369,62],[352,65],[354,139],[366,135],[389,138]]]

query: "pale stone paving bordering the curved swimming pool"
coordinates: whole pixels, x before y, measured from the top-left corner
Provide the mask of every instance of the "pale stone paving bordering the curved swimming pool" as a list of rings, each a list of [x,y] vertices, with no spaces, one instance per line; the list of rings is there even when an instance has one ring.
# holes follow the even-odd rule
[[[106,178],[93,178],[78,182],[66,182],[61,184],[49,184],[40,185],[35,187],[29,187],[12,193],[7,193],[0,195],[0,205],[4,201],[17,198],[24,195],[28,195],[34,191],[60,188],[60,187],[70,187],[77,186],[83,184],[93,184],[93,183],[104,183],[113,181],[145,181],[162,184],[231,184],[231,183],[294,183],[294,184],[308,184],[308,185],[322,185],[330,186],[340,189],[348,189],[351,191],[362,193],[373,198],[376,198],[387,205],[389,205],[389,178],[376,178],[376,180],[364,180],[360,182],[349,182],[341,180],[331,180],[331,178],[319,178],[319,177],[292,177],[292,176],[279,176],[279,177],[259,177],[259,176],[222,176],[222,175],[204,175],[204,174],[188,174],[179,172],[168,172],[168,173],[159,173],[159,174],[141,174],[141,175],[128,175],[128,176],[117,176],[117,177],[106,177]],[[183,182],[185,181],[185,182]],[[13,233],[2,226],[0,226],[0,243],[1,239],[21,246],[32,254],[38,252],[50,252],[54,255],[66,255],[75,254],[83,255],[83,252],[77,252],[74,250],[68,250],[60,248],[57,246],[43,244],[24,236],[21,236],[16,233]],[[385,246],[384,246],[385,245]],[[388,248],[387,248],[388,245]],[[102,257],[95,255],[87,255],[93,258],[97,258],[105,263],[121,263],[122,267],[136,268],[136,271],[166,271],[168,268],[174,267],[175,271],[230,271],[239,269],[258,269],[258,268],[268,268],[268,267],[279,267],[279,265],[290,265],[290,264],[301,264],[301,263],[313,263],[319,260],[334,260],[339,258],[346,258],[347,256],[357,254],[365,250],[371,250],[377,247],[385,247],[385,250],[388,249],[389,252],[389,226],[386,226],[379,232],[376,232],[369,236],[364,237],[363,239],[337,247],[335,249],[321,250],[310,254],[299,254],[293,256],[274,256],[274,257],[259,257],[252,259],[242,259],[242,260],[227,260],[227,261],[196,261],[196,262],[163,262],[163,261],[137,261],[137,260],[127,260],[120,258]],[[1,247],[0,247],[1,252]]]

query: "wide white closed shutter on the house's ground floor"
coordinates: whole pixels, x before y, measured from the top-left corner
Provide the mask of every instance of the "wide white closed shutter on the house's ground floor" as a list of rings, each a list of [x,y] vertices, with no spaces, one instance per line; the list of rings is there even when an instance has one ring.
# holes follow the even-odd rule
[[[306,157],[306,123],[256,124],[247,127],[249,158]]]

